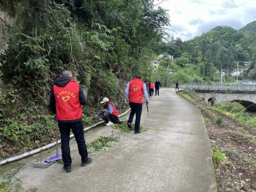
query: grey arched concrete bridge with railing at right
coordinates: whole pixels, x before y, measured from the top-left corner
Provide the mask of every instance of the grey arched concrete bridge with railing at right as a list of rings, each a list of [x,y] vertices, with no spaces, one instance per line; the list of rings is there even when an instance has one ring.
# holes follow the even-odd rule
[[[183,88],[194,90],[209,105],[235,101],[248,111],[256,112],[255,85],[184,84]]]

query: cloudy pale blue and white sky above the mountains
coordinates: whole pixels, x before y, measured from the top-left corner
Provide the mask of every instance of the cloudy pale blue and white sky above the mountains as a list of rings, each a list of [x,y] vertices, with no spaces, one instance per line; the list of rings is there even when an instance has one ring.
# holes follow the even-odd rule
[[[164,0],[160,6],[169,10],[172,29],[177,33],[170,30],[170,35],[182,40],[216,26],[240,29],[256,20],[255,0]]]

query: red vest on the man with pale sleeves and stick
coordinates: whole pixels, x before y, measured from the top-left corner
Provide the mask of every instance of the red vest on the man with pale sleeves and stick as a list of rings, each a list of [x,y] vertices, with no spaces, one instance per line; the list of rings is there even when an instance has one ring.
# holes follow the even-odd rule
[[[138,78],[129,83],[129,102],[143,103],[143,86],[144,83]]]

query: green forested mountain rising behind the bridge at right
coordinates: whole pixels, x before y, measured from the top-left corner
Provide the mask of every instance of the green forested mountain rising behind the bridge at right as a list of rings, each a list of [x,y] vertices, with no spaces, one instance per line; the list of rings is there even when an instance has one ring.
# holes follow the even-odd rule
[[[162,42],[157,45],[156,51],[172,54],[176,58],[175,64],[179,67],[196,66],[199,77],[190,79],[191,81],[198,81],[200,77],[204,77],[205,81],[214,81],[218,76],[216,71],[221,69],[227,74],[225,77],[232,80],[230,72],[237,68],[237,61],[239,68],[244,67],[244,61],[250,61],[249,70],[244,73],[244,78],[248,75],[254,78],[256,63],[256,32],[252,32],[254,25],[255,22],[252,22],[238,31],[228,26],[218,26],[196,36],[193,40],[182,42],[177,39],[168,43]],[[247,30],[251,32],[248,33]],[[186,74],[185,71],[184,73]]]

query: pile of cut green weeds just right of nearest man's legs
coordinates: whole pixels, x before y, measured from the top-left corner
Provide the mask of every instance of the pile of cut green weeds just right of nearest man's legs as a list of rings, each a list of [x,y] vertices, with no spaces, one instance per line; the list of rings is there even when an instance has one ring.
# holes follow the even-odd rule
[[[109,147],[114,147],[118,144],[119,138],[114,136],[99,136],[96,140],[87,145],[90,150],[106,150]]]

